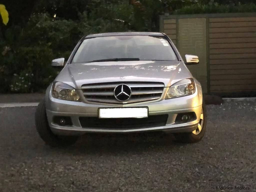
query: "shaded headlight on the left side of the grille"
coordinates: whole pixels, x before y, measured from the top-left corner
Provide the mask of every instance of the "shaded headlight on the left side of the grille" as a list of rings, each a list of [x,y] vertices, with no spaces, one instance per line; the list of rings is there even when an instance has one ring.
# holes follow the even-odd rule
[[[56,99],[80,101],[80,97],[76,89],[68,84],[58,81],[55,81],[52,84],[51,95]]]

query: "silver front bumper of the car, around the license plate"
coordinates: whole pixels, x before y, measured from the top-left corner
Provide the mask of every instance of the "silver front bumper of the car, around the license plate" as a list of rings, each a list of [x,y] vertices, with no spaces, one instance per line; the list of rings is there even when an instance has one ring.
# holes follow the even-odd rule
[[[166,90],[165,90],[166,91]],[[81,93],[82,94],[82,93]],[[165,126],[156,127],[139,127],[139,128],[105,128],[105,127],[82,127],[79,121],[80,117],[98,117],[99,108],[113,107],[148,107],[148,115],[168,115]],[[82,98],[82,102],[66,101],[55,99],[51,96],[50,91],[46,94],[46,114],[49,126],[53,133],[58,135],[81,135],[87,132],[97,133],[132,133],[148,131],[165,131],[168,133],[193,132],[200,121],[202,111],[202,94],[201,90],[196,91],[193,95],[181,98],[165,100],[163,98],[142,103],[133,104],[101,104],[90,103]],[[186,123],[175,122],[180,113],[195,112],[196,118]],[[55,116],[68,116],[72,125],[60,126],[54,123]],[[109,126],[111,127],[111,126]]]

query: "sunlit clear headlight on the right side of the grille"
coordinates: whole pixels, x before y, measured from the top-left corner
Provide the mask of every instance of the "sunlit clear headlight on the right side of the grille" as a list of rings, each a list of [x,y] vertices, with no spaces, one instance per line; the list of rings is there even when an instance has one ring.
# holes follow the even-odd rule
[[[172,99],[177,97],[184,97],[187,95],[192,95],[196,92],[196,84],[194,79],[183,79],[175,84],[173,84],[167,94],[165,99]]]

